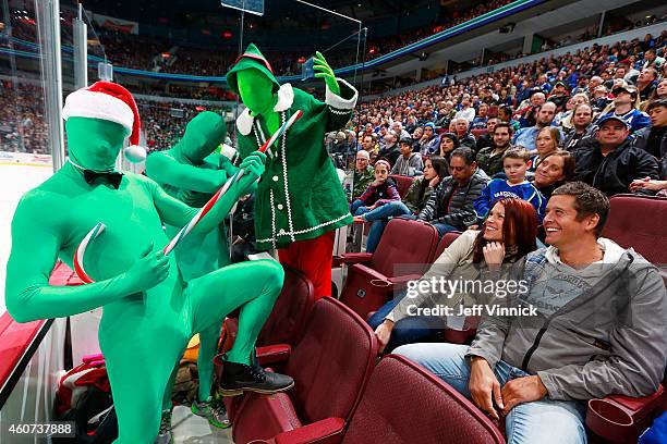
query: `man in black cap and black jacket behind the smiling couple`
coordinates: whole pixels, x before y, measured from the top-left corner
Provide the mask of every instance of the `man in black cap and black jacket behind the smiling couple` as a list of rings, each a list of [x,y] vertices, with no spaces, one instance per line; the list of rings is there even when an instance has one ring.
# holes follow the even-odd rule
[[[628,193],[636,178],[658,178],[657,160],[632,146],[630,126],[621,116],[610,114],[597,121],[599,130],[591,145],[574,151],[578,181],[601,189],[607,196]],[[635,193],[651,194],[646,190]]]

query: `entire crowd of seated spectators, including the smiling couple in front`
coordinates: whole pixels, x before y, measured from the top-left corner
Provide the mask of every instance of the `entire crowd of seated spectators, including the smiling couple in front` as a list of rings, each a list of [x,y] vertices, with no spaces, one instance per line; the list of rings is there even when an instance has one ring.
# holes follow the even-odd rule
[[[501,421],[508,442],[585,442],[586,400],[652,395],[665,378],[665,284],[602,233],[623,217],[610,214],[611,196],[667,195],[666,46],[664,32],[383,97],[330,140],[336,156],[355,156],[350,211],[356,232],[368,227],[367,252],[395,218],[454,238],[372,311],[380,349],[445,380]],[[447,173],[435,173],[444,162]],[[646,279],[615,285],[621,275]],[[526,306],[534,312],[494,312]],[[466,329],[472,344],[452,344],[448,333]],[[664,430],[655,421],[645,442]]]

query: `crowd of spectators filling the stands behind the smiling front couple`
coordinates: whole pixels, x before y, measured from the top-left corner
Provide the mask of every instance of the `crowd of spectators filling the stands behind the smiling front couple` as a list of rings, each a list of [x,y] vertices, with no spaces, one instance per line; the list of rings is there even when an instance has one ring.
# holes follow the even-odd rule
[[[444,234],[478,224],[508,195],[541,221],[572,180],[608,196],[667,194],[666,46],[667,30],[361,103],[355,124],[328,140],[339,165],[356,156],[351,212],[374,224],[413,217]],[[401,200],[388,175],[424,175],[426,159],[448,162],[456,186],[428,181],[433,201],[388,213]]]

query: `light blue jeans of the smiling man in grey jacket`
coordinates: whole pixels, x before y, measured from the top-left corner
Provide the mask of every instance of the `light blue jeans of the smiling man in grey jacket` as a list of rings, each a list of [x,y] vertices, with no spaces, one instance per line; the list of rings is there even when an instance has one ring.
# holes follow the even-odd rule
[[[468,382],[470,366],[465,359],[466,345],[459,344],[410,344],[393,353],[403,355],[471,399]],[[521,369],[498,361],[494,369],[500,386],[508,381],[527,375]],[[508,444],[584,444],[586,431],[585,403],[551,400],[544,397],[532,403],[520,404],[505,418]]]

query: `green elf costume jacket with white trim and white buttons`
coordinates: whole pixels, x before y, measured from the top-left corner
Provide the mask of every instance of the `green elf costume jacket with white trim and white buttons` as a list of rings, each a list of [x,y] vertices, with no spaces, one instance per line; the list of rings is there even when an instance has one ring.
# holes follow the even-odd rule
[[[313,239],[352,222],[348,200],[327,150],[324,135],[340,130],[352,116],[356,89],[338,79],[340,96],[327,87],[322,102],[290,84],[280,86],[274,110],[286,122],[296,110],[303,116],[276,141],[266,160],[255,199],[258,249],[284,248]],[[237,120],[239,152],[245,158],[270,137],[263,118],[245,109]]]

